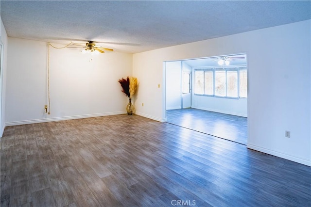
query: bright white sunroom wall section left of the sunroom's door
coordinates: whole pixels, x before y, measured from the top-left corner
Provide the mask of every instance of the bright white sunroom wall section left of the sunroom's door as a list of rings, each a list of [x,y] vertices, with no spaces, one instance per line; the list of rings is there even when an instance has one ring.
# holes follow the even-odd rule
[[[181,108],[181,61],[166,63],[166,109]]]

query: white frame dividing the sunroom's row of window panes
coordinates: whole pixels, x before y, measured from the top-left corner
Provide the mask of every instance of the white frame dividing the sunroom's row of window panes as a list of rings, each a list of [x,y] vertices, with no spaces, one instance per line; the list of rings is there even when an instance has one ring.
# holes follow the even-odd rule
[[[244,66],[234,66],[234,67],[212,67],[212,68],[198,68],[198,69],[194,69],[193,73],[193,77],[194,77],[194,92],[193,94],[195,96],[209,96],[209,97],[217,97],[217,98],[231,98],[231,99],[247,99],[247,97],[241,97],[240,96],[240,71],[246,71],[246,74],[247,74],[247,67],[246,65]],[[196,71],[203,71],[203,94],[196,94],[195,91],[195,72]],[[213,95],[208,95],[208,94],[205,94],[205,72],[206,71],[212,71],[213,72]],[[216,76],[216,71],[225,71],[225,96],[217,96],[215,95],[215,76]],[[238,96],[237,97],[234,97],[234,96],[227,96],[227,71],[237,71],[237,90],[238,90]]]

